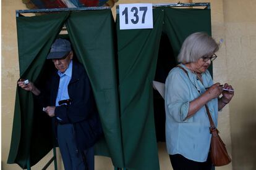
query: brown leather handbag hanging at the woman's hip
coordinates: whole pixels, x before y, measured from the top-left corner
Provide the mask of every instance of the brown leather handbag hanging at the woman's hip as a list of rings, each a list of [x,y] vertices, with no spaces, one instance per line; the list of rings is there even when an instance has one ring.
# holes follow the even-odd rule
[[[211,162],[214,166],[223,166],[231,163],[231,158],[228,155],[224,142],[219,136],[219,131],[213,123],[211,118],[210,111],[207,105],[205,105],[207,110],[207,115],[210,121],[210,133],[211,133],[211,146],[210,146],[210,155]]]

